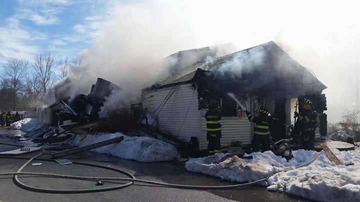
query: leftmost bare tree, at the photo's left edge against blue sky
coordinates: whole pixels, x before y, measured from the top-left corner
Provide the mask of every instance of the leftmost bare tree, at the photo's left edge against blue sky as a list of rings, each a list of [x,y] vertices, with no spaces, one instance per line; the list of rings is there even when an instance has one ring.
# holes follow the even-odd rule
[[[9,59],[7,64],[3,66],[4,78],[2,85],[11,89],[12,93],[12,109],[16,109],[16,101],[19,91],[22,88],[22,79],[25,74],[28,61],[20,59]]]

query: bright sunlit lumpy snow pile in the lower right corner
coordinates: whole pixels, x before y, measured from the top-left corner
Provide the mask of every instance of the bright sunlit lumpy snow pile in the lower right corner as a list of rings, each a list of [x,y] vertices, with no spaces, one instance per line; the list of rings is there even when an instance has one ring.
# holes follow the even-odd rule
[[[332,152],[344,163],[335,166],[322,152],[308,167],[278,173],[267,181],[269,191],[326,202],[360,201],[360,150]]]

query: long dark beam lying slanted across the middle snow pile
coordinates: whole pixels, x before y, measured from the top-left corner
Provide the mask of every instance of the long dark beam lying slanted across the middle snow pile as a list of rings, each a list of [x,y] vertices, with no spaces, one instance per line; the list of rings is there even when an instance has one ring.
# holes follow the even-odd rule
[[[56,153],[51,154],[51,156],[52,156],[53,159],[57,159],[57,158],[61,158],[61,157],[64,157],[64,156],[69,156],[69,155],[72,155],[72,154],[85,152],[85,151],[95,149],[95,148],[98,148],[98,147],[110,145],[110,144],[113,144],[113,143],[118,143],[118,142],[121,142],[122,140],[123,140],[123,136],[117,137],[117,138],[112,138],[112,139],[109,139],[109,140],[105,140],[105,141],[102,141],[102,142],[86,145],[86,146],[83,146],[83,147],[69,149],[69,150],[62,151],[62,152],[56,152]]]

